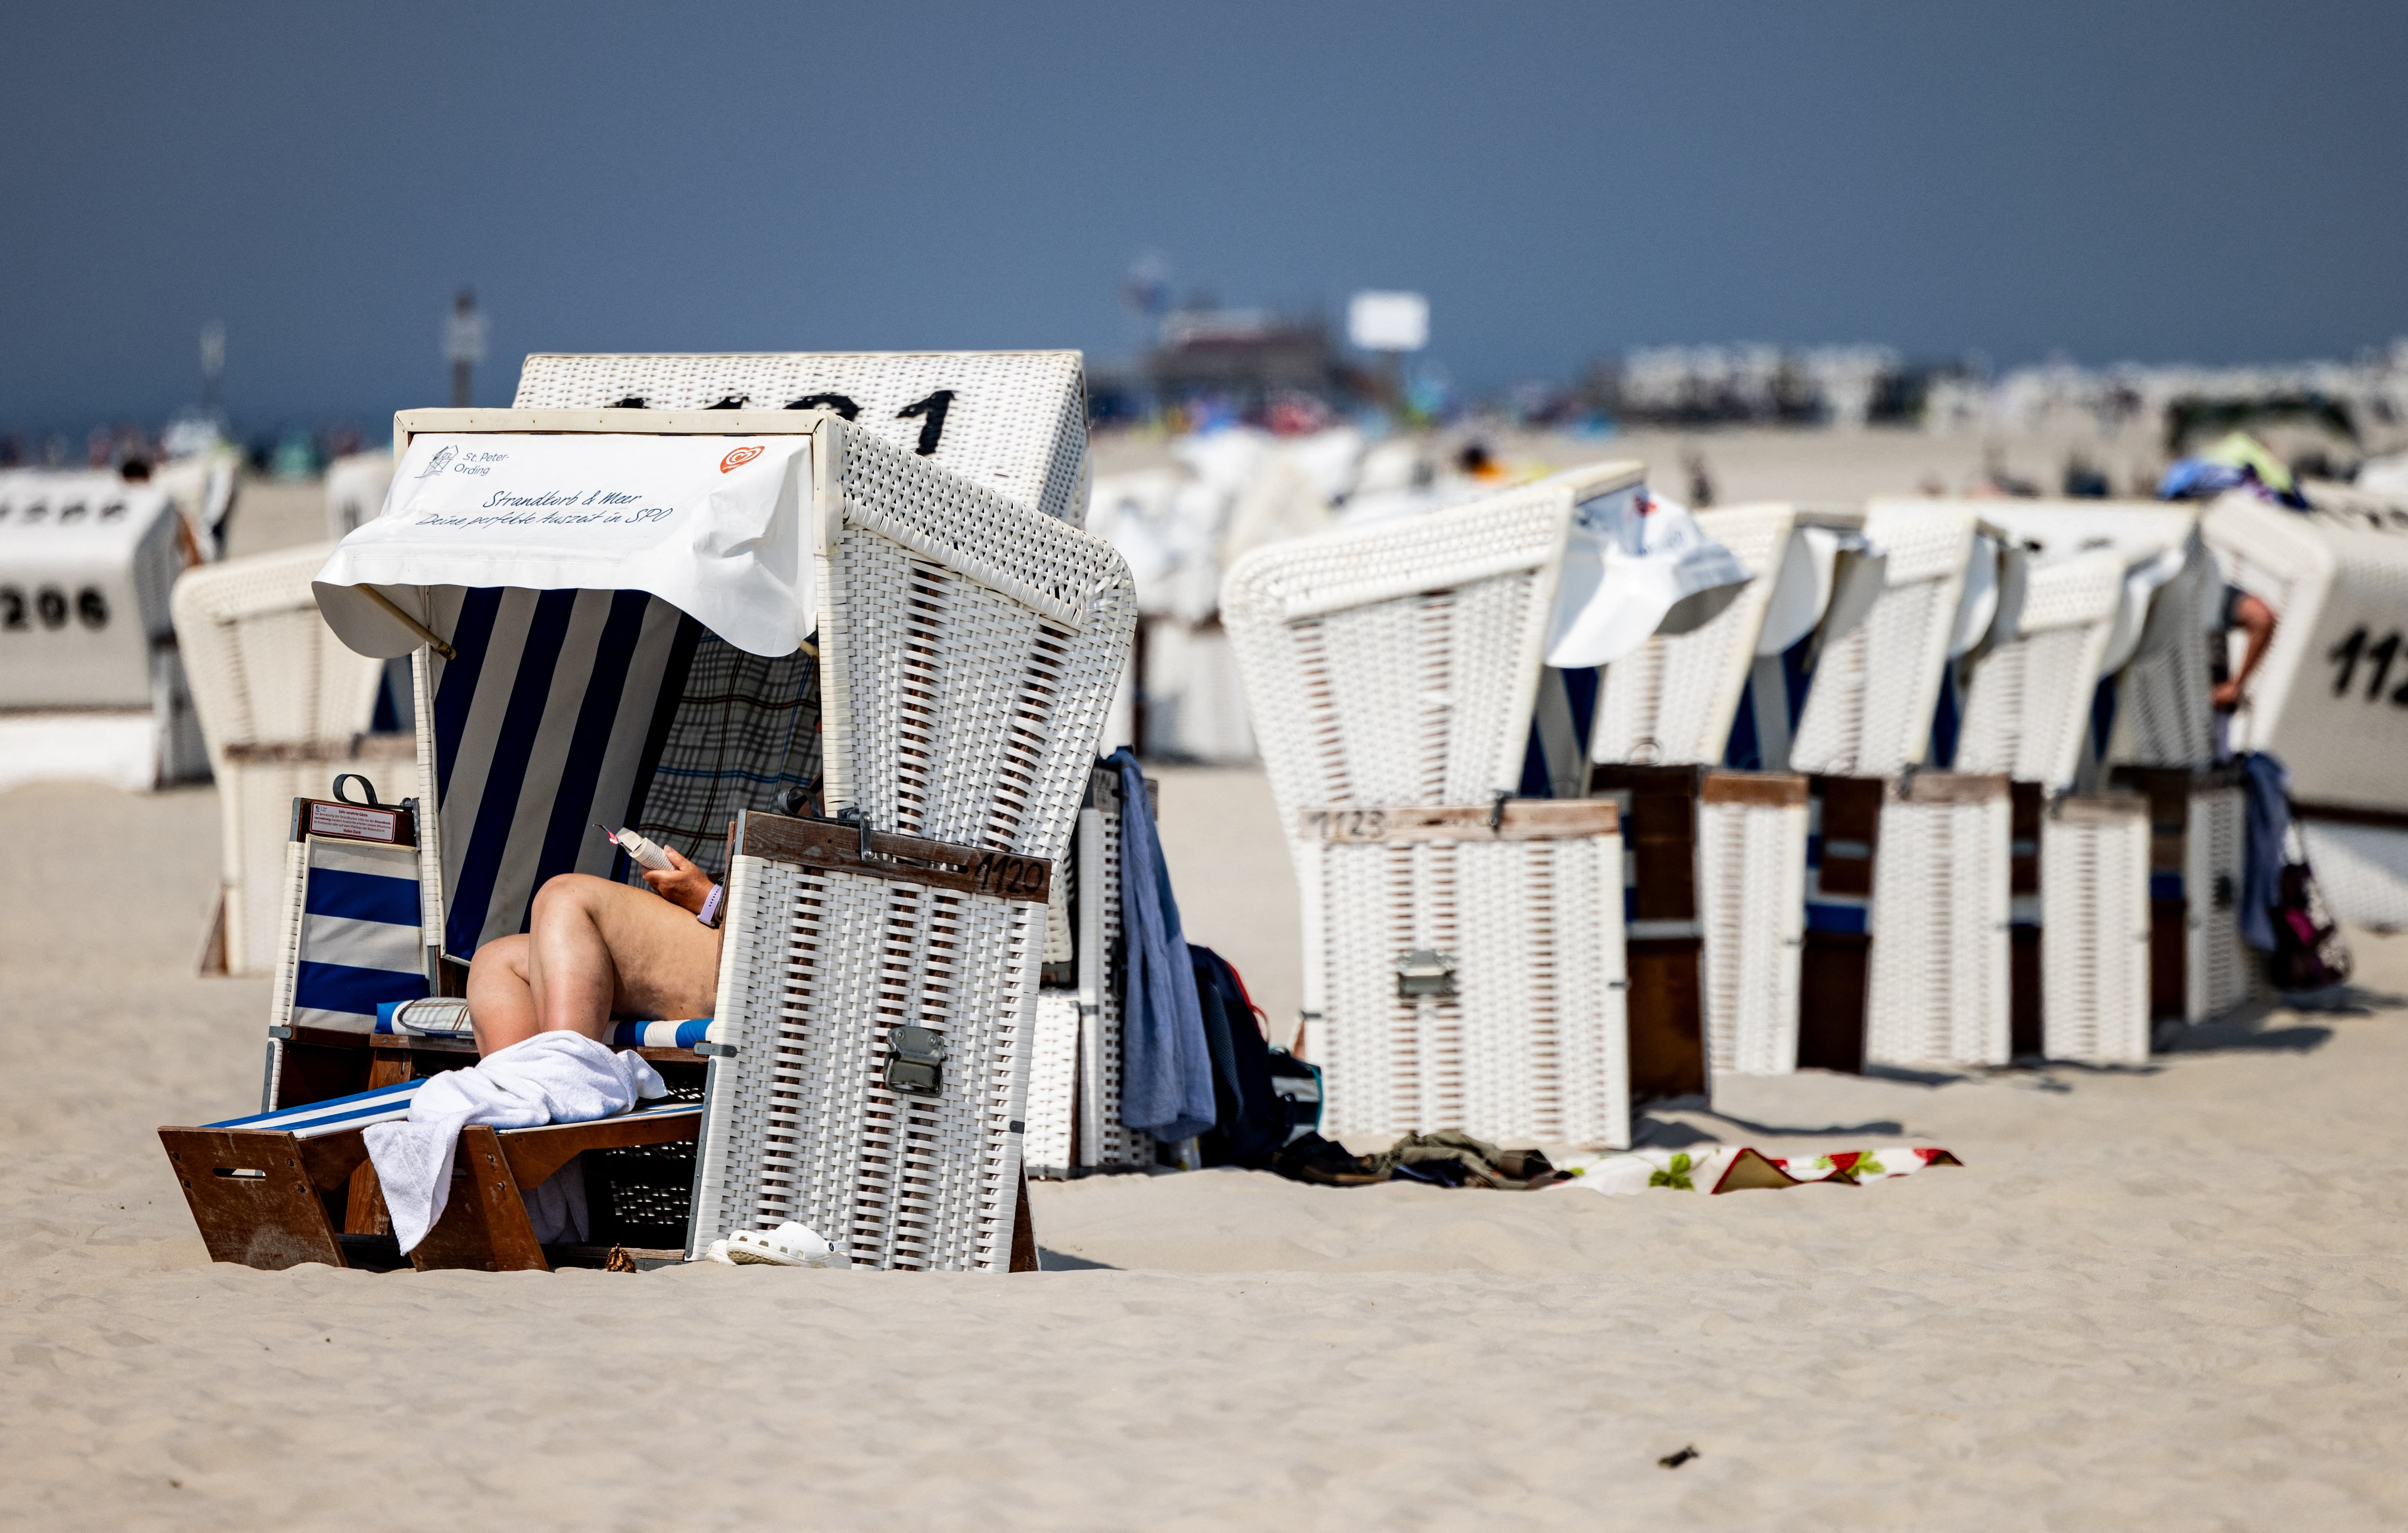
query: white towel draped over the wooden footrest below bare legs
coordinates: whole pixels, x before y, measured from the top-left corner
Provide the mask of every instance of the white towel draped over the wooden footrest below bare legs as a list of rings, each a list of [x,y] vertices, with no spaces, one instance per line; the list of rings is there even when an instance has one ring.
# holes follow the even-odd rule
[[[443,1218],[460,1129],[583,1124],[665,1095],[669,1088],[660,1083],[660,1071],[636,1052],[614,1054],[583,1032],[537,1032],[486,1054],[477,1069],[436,1076],[409,1100],[407,1119],[368,1124],[361,1138],[368,1141],[368,1160],[376,1162],[376,1179],[385,1186],[393,1235],[402,1242],[402,1251],[409,1251]],[[563,1177],[573,1172],[576,1162],[561,1167]],[[527,1213],[537,1223],[535,1237],[559,1239],[563,1232],[583,1237],[583,1186],[551,1182],[525,1194]]]

